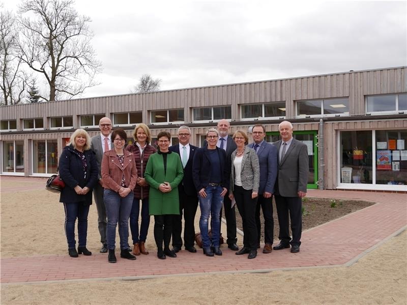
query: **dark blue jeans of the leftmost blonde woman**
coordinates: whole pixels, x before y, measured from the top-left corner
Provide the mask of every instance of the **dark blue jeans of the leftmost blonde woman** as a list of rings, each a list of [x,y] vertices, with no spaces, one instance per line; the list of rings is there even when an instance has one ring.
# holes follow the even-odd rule
[[[89,204],[83,202],[64,202],[65,209],[65,235],[68,248],[75,248],[75,221],[78,219],[78,246],[86,247],[88,235]]]

